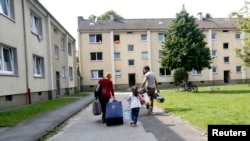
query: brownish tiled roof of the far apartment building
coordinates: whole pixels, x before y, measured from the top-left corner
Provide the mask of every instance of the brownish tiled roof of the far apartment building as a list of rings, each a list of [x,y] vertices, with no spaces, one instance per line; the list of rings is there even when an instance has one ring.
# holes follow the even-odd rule
[[[78,22],[79,31],[90,30],[159,30],[166,29],[173,18],[162,19],[122,19],[122,20],[85,20]],[[196,20],[199,28],[203,29],[236,29],[235,19],[230,18],[209,18]]]

